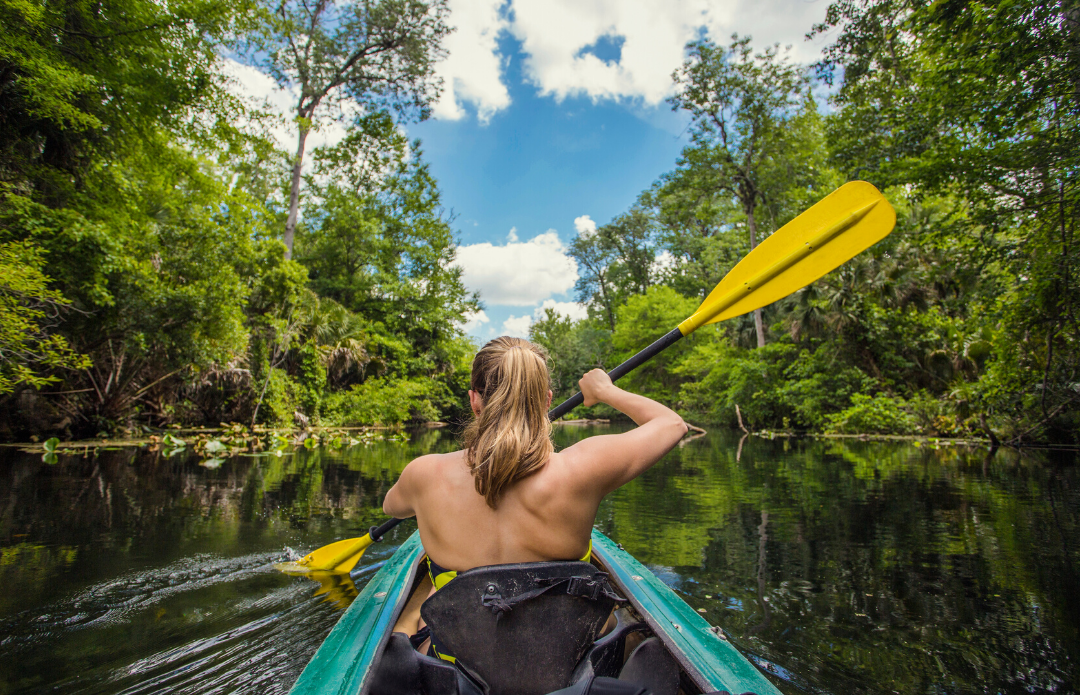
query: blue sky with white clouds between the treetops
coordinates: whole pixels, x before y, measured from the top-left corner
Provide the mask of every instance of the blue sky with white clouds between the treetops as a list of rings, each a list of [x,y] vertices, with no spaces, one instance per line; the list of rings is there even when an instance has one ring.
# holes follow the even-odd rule
[[[810,63],[827,42],[804,36],[824,0],[449,0],[456,31],[437,72],[444,93],[434,117],[406,125],[422,140],[456,215],[458,263],[485,310],[467,330],[486,340],[525,336],[543,306],[583,315],[573,299],[573,237],[625,212],[672,169],[686,145],[673,113],[671,73],[687,41],[792,45]],[[282,107],[254,68],[235,66],[249,96]],[[339,138],[329,126],[312,147]],[[292,151],[292,134],[279,139]]]

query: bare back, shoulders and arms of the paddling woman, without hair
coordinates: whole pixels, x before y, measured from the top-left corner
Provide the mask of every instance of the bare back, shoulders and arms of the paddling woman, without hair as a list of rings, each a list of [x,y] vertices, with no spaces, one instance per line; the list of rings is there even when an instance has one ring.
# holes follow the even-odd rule
[[[638,426],[552,453],[507,488],[496,508],[476,492],[463,451],[420,456],[405,467],[382,508],[399,518],[415,515],[424,549],[447,570],[582,557],[604,495],[670,451],[686,424],[669,408],[615,386],[599,369],[579,383],[586,406],[606,403]]]

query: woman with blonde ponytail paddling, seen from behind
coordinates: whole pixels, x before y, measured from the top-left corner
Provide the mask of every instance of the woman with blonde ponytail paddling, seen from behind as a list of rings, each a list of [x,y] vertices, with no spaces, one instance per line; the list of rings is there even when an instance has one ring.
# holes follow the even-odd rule
[[[496,338],[476,354],[464,449],[409,463],[382,509],[416,516],[434,586],[476,567],[588,557],[604,495],[642,475],[686,434],[683,419],[626,393],[600,369],[578,382],[585,406],[604,403],[637,427],[556,452],[546,354]]]

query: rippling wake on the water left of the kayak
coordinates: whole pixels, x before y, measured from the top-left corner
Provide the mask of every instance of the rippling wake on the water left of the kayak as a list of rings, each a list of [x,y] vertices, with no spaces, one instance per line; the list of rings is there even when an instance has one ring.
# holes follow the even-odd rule
[[[8,655],[50,642],[66,666],[85,664],[14,692],[286,693],[340,611],[273,570],[281,557],[190,557],[0,623]]]

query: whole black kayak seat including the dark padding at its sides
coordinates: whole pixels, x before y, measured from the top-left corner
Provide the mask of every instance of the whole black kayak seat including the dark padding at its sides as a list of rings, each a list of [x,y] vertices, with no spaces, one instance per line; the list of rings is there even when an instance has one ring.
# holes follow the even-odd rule
[[[448,636],[442,643],[457,660],[420,654],[408,636],[393,632],[363,693],[676,695],[679,667],[658,638],[645,639],[623,663],[626,638],[648,630],[629,609],[616,610],[615,628],[595,639],[623,601],[586,562],[462,572],[420,610],[433,633]],[[485,656],[496,658],[488,664]]]

